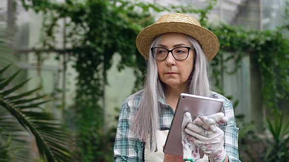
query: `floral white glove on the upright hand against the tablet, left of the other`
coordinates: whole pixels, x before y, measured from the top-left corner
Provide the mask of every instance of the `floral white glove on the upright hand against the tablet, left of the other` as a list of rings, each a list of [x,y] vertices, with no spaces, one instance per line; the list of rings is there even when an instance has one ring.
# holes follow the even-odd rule
[[[200,159],[199,147],[189,140],[189,134],[185,132],[186,125],[193,123],[191,114],[186,112],[182,122],[182,144],[183,144],[183,161],[198,162]]]

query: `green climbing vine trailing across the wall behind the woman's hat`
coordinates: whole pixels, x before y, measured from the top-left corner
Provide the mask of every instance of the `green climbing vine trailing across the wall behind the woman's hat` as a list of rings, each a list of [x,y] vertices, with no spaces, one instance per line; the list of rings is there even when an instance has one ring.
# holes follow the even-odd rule
[[[75,60],[77,89],[75,110],[77,114],[77,155],[83,162],[111,159],[103,150],[107,142],[103,131],[104,112],[99,104],[103,87],[107,84],[107,70],[112,58],[119,53],[118,69],[133,67],[136,76],[135,89],[140,89],[145,72],[145,61],[135,46],[137,34],[154,22],[151,11],[184,12],[199,14],[201,24],[213,31],[220,41],[220,51],[211,62],[215,86],[221,90],[220,74],[235,73],[243,55],[252,55],[258,63],[262,78],[263,100],[267,107],[278,107],[281,100],[289,98],[289,42],[282,31],[247,31],[229,25],[213,26],[207,14],[217,0],[207,0],[204,9],[192,6],[164,7],[159,4],[131,2],[126,0],[21,0],[28,10],[44,15],[42,48],[56,49],[59,21],[66,19],[67,53]],[[230,55],[224,53],[230,51]],[[224,58],[226,57],[226,58]],[[228,71],[226,63],[235,61],[236,67]],[[273,94],[273,95],[272,95]],[[112,146],[107,146],[107,148]],[[111,157],[110,157],[111,158]]]

